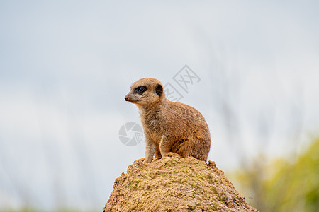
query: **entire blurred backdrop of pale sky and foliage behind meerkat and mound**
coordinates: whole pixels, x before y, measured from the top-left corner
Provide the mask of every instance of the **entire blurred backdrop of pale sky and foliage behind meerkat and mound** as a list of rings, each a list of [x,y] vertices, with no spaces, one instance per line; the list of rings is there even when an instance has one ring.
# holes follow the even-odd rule
[[[318,8],[0,1],[0,211],[101,211],[145,154],[119,137],[143,77],[203,114],[208,160],[252,206],[318,211]]]

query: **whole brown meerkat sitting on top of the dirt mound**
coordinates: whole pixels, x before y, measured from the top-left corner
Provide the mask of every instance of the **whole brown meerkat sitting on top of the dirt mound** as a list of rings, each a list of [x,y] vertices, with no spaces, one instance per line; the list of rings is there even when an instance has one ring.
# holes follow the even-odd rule
[[[157,79],[136,81],[125,100],[140,110],[146,139],[145,163],[150,163],[154,154],[157,159],[193,156],[207,160],[211,135],[204,117],[194,107],[167,100]]]

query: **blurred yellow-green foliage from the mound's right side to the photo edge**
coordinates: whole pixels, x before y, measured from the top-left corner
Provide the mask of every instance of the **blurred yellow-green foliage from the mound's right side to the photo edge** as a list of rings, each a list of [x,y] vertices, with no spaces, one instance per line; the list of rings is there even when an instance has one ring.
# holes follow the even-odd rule
[[[239,191],[259,211],[319,211],[319,139],[298,158],[263,157],[235,174]]]

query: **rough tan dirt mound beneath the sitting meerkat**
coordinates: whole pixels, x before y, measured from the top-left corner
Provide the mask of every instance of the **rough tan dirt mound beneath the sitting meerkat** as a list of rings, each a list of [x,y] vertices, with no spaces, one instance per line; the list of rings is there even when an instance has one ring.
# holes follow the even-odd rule
[[[103,211],[257,211],[214,162],[195,158],[136,160],[114,182]]]

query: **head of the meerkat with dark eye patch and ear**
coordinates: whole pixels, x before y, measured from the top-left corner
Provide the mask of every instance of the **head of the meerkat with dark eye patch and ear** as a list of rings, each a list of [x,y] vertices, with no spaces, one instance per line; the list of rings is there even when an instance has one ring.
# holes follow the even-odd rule
[[[155,78],[141,78],[130,86],[130,92],[125,95],[126,101],[136,105],[152,105],[164,98],[163,85]]]

